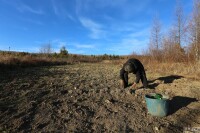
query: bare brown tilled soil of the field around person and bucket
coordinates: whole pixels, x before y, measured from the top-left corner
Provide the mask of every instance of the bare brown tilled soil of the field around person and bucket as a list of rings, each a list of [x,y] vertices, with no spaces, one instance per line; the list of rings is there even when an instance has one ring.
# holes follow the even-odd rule
[[[200,128],[200,81],[148,73],[149,88],[119,85],[119,65],[34,67],[0,72],[0,132],[183,132]],[[130,83],[134,75],[130,74]],[[170,96],[166,117],[144,96]],[[197,129],[199,129],[197,128]],[[199,129],[200,130],[200,129]]]

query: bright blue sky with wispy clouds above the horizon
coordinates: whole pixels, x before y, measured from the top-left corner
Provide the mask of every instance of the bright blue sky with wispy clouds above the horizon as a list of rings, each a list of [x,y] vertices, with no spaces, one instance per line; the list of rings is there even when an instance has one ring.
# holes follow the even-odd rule
[[[186,15],[192,0],[180,0]],[[152,18],[174,22],[175,0],[0,0],[0,50],[39,52],[51,43],[73,54],[141,54]]]

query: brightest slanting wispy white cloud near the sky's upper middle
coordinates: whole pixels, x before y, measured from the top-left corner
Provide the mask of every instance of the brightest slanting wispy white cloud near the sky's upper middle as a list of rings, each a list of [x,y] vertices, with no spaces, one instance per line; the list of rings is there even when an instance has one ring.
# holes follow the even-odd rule
[[[84,17],[80,17],[79,20],[81,24],[91,32],[89,35],[91,38],[99,39],[105,37],[106,32],[103,30],[103,26],[101,24]]]

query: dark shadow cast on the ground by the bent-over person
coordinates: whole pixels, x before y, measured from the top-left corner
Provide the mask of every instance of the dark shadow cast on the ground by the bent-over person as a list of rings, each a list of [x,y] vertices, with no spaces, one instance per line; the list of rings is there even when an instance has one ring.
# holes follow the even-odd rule
[[[159,77],[154,80],[149,80],[148,87],[150,89],[155,89],[160,84],[160,83],[154,83],[156,80],[160,80],[161,82],[164,82],[164,84],[168,84],[168,83],[173,83],[174,80],[181,79],[181,78],[184,78],[184,77],[180,76],[180,75],[169,75],[169,76],[165,76],[165,77]]]

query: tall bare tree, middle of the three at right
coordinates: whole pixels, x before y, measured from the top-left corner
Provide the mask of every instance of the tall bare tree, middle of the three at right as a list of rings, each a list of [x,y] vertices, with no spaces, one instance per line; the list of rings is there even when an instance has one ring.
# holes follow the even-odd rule
[[[183,7],[177,0],[175,10],[175,23],[169,30],[168,34],[163,38],[163,54],[170,61],[181,61],[185,57],[182,42],[186,34],[186,18],[183,13]]]

